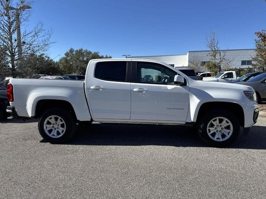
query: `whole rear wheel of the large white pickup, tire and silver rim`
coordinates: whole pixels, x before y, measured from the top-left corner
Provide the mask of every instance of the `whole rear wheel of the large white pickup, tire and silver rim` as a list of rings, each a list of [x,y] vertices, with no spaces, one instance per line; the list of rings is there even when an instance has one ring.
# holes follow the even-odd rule
[[[69,140],[76,130],[76,119],[67,110],[53,108],[45,111],[38,122],[39,133],[50,143]]]

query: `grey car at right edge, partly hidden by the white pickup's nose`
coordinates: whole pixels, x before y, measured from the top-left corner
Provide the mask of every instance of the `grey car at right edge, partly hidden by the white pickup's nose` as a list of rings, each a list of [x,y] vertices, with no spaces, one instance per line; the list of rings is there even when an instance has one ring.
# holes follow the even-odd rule
[[[257,102],[266,102],[266,72],[250,78],[247,81],[235,83],[251,86],[257,93]]]

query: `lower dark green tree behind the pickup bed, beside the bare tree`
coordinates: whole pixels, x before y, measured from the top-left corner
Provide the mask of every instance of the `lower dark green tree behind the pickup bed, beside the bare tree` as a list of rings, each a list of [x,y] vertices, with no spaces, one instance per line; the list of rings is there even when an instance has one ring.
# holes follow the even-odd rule
[[[61,70],[57,62],[45,54],[32,54],[22,61],[19,74],[21,77],[32,77],[34,74],[60,75]]]

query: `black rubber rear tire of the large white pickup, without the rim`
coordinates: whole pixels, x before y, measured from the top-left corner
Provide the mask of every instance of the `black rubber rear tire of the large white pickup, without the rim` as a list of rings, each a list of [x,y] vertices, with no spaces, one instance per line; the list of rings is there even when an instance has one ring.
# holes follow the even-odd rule
[[[44,129],[45,120],[49,116],[53,116],[53,115],[54,116],[59,116],[65,122],[65,131],[62,134],[62,136],[60,136],[58,138],[53,138],[53,137],[49,136],[45,132],[45,129]],[[62,125],[64,125],[64,124],[62,124]],[[70,138],[72,138],[72,136],[75,133],[75,130],[76,130],[76,118],[69,111],[67,111],[67,110],[65,110],[63,108],[52,108],[52,109],[49,109],[49,110],[45,111],[41,115],[41,118],[39,119],[39,122],[38,122],[38,128],[39,128],[39,133],[41,134],[43,139],[45,139],[47,142],[49,142],[49,143],[64,143],[64,142],[68,141]],[[64,128],[64,126],[63,126],[63,128]],[[56,134],[60,135],[59,132],[56,132]]]

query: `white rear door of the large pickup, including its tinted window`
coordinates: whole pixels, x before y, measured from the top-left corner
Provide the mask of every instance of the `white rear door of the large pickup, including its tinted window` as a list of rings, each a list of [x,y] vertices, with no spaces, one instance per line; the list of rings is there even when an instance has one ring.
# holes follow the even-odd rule
[[[99,61],[87,73],[88,102],[95,119],[129,119],[131,61]]]

